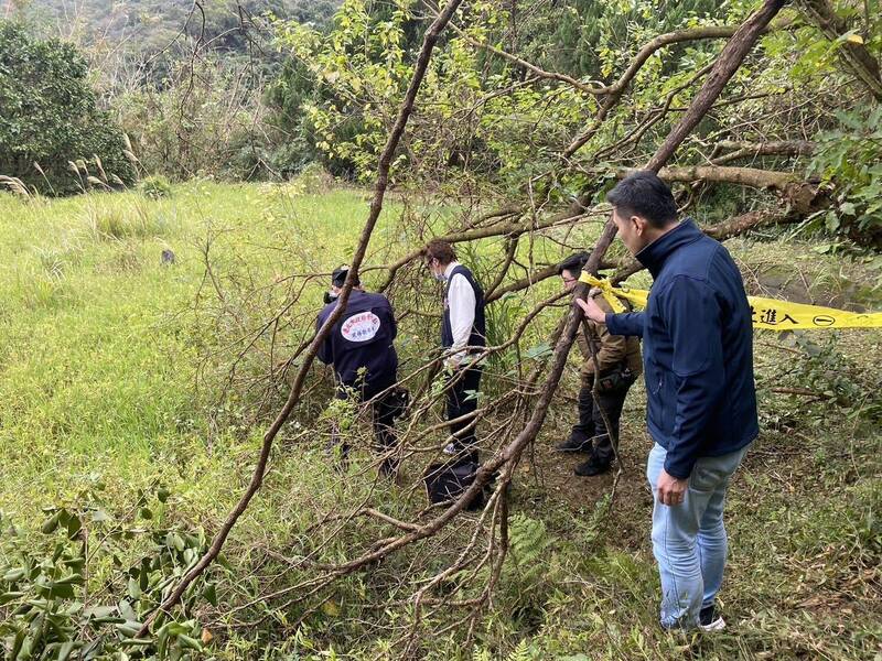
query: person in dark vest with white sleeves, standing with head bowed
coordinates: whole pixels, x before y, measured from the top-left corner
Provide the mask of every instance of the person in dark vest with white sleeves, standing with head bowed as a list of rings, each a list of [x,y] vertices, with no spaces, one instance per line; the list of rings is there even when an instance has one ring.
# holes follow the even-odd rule
[[[423,251],[432,275],[444,283],[444,314],[441,321],[441,346],[445,349],[448,383],[448,420],[456,420],[477,409],[481,366],[476,354],[486,346],[484,292],[472,272],[456,261],[453,247],[447,241],[430,241]],[[444,453],[463,462],[477,464],[477,420],[451,423],[453,442]]]

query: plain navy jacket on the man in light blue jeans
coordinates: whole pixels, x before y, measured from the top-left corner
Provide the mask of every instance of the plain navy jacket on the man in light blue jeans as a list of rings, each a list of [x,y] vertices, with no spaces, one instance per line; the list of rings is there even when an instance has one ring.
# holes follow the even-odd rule
[[[734,452],[760,433],[751,308],[729,252],[691,220],[637,259],[655,279],[648,305],[607,314],[606,327],[643,336],[649,434],[667,449],[665,470],[685,479],[699,457]]]

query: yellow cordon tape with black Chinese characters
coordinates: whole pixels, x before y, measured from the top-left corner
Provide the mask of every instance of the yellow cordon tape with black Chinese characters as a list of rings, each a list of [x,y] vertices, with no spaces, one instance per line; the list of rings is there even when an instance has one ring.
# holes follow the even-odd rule
[[[582,273],[580,282],[598,288],[614,312],[625,312],[619,299],[631,301],[637,307],[646,307],[647,290],[613,286],[609,280]],[[788,303],[775,299],[747,296],[753,314],[753,327],[768,330],[806,330],[818,328],[882,328],[882,312],[848,312],[820,305]]]

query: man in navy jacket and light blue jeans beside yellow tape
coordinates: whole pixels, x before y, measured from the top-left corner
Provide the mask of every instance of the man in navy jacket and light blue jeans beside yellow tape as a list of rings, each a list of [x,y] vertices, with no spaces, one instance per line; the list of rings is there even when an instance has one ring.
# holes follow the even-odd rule
[[[648,305],[606,314],[591,297],[577,303],[610,333],[643,337],[662,625],[718,630],[725,491],[759,434],[751,308],[729,252],[678,221],[655,173],[625,177],[607,199],[620,238],[653,274]]]

